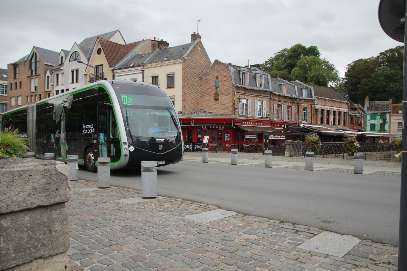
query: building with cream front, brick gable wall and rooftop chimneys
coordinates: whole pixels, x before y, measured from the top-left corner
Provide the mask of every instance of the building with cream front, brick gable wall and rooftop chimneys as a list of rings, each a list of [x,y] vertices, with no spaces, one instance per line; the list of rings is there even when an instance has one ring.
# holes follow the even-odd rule
[[[197,111],[200,78],[211,65],[201,36],[194,32],[190,43],[173,47],[161,40],[157,42],[157,48],[144,63],[144,82],[164,89],[178,115]]]

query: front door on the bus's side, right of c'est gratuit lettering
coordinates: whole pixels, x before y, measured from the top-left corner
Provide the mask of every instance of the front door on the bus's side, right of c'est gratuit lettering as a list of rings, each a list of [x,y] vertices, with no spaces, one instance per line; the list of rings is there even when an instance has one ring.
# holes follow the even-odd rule
[[[98,157],[110,157],[110,162],[120,158],[120,140],[112,104],[98,105]]]

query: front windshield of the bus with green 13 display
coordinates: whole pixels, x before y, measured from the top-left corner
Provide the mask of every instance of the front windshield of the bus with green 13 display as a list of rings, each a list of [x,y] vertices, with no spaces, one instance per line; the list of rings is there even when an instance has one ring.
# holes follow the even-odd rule
[[[132,137],[167,138],[181,134],[173,104],[157,87],[115,85],[127,132]],[[129,134],[130,136],[130,134]]]

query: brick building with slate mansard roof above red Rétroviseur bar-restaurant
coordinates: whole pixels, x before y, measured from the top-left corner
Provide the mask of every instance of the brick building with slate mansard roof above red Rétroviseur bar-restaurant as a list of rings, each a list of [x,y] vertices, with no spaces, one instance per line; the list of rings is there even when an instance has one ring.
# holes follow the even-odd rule
[[[287,125],[310,124],[315,100],[309,87],[219,60],[201,79],[200,88],[184,95],[194,97],[195,111],[180,116],[185,142],[201,143],[208,136],[208,143],[224,145],[261,144],[265,134],[271,145],[282,145],[286,135],[274,133]]]

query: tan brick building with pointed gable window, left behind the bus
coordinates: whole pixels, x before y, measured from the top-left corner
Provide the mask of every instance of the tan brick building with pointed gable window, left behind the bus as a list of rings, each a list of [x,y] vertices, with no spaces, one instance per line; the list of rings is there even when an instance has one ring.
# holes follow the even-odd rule
[[[7,65],[7,110],[46,98],[46,74],[59,63],[59,53],[34,46],[30,54]]]

